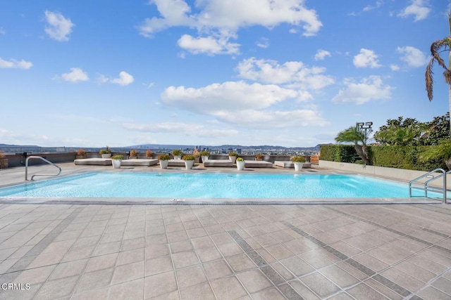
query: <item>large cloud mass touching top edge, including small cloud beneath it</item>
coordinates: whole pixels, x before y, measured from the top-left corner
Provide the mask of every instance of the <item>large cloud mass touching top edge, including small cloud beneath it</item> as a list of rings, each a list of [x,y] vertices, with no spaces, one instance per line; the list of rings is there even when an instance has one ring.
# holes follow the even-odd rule
[[[195,2],[190,7],[184,0],[151,0],[149,3],[156,5],[161,17],[147,18],[137,29],[144,37],[153,37],[169,27],[194,28],[199,37],[185,34],[179,39],[179,46],[192,53],[214,55],[238,53],[240,44],[229,40],[236,38],[237,31],[243,27],[273,28],[288,23],[295,28],[302,27],[302,34],[309,37],[323,26],[316,11],[305,6],[305,0]]]

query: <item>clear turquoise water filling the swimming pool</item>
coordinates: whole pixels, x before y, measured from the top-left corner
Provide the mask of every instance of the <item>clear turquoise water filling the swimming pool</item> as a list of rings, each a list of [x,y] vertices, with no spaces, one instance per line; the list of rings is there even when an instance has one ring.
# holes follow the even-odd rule
[[[397,198],[409,190],[358,175],[88,173],[0,188],[0,197]]]

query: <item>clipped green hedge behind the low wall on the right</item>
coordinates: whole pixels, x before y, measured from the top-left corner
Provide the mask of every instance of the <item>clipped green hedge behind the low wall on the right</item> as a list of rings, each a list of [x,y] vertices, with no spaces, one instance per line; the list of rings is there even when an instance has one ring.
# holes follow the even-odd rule
[[[377,167],[391,167],[419,171],[446,169],[445,162],[433,159],[419,162],[419,155],[434,146],[369,146],[367,148],[371,164]],[[320,159],[330,162],[362,163],[354,145],[321,145]]]

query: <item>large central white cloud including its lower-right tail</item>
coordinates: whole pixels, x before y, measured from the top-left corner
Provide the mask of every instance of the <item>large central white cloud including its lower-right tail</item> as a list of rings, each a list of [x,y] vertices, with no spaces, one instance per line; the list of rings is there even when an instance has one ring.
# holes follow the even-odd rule
[[[200,89],[170,86],[161,94],[164,105],[210,115],[223,123],[259,129],[325,125],[327,122],[315,110],[271,110],[271,106],[285,100],[308,98],[311,95],[307,92],[244,81],[211,84]]]

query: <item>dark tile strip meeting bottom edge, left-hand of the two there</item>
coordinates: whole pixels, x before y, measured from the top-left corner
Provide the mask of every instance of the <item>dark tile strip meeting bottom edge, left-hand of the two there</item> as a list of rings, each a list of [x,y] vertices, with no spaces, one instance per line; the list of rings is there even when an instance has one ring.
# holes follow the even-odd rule
[[[239,233],[235,230],[229,230],[229,235],[237,242],[237,244],[245,251],[252,261],[257,265],[258,269],[264,273],[266,278],[273,284],[274,287],[278,288],[279,291],[289,300],[302,300],[304,299],[300,294],[298,294],[295,289],[290,285],[290,283],[285,280],[281,275],[279,275],[276,270],[270,264],[258,254],[251,245],[249,245]]]

